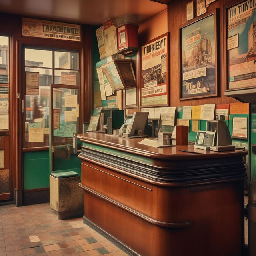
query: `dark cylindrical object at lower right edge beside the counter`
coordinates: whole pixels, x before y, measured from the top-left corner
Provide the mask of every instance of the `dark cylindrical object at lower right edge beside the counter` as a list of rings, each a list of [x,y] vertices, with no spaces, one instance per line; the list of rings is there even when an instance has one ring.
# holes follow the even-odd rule
[[[248,249],[249,256],[256,255],[256,182],[249,185],[248,200]]]

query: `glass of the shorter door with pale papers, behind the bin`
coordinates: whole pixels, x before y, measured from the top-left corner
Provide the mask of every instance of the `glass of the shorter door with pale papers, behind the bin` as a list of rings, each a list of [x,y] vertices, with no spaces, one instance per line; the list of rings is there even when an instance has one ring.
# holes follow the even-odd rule
[[[78,132],[78,90],[53,89],[53,170],[74,168],[77,155],[73,149],[73,134]],[[73,166],[73,167],[72,167]]]

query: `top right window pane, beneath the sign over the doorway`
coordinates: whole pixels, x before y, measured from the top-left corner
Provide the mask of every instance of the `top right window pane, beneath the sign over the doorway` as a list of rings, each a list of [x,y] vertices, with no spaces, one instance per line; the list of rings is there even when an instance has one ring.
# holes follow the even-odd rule
[[[54,67],[78,69],[78,52],[55,52]]]

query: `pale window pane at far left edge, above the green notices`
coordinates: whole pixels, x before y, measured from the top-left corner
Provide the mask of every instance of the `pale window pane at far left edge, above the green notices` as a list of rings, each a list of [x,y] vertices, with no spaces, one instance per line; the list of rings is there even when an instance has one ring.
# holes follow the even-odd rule
[[[0,84],[9,83],[9,37],[0,36]]]

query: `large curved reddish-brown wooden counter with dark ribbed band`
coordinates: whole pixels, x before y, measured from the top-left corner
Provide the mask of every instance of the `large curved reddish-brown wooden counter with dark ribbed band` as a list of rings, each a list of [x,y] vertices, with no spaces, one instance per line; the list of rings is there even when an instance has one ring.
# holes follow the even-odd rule
[[[153,148],[94,132],[78,138],[86,224],[131,255],[242,255],[246,151]]]

